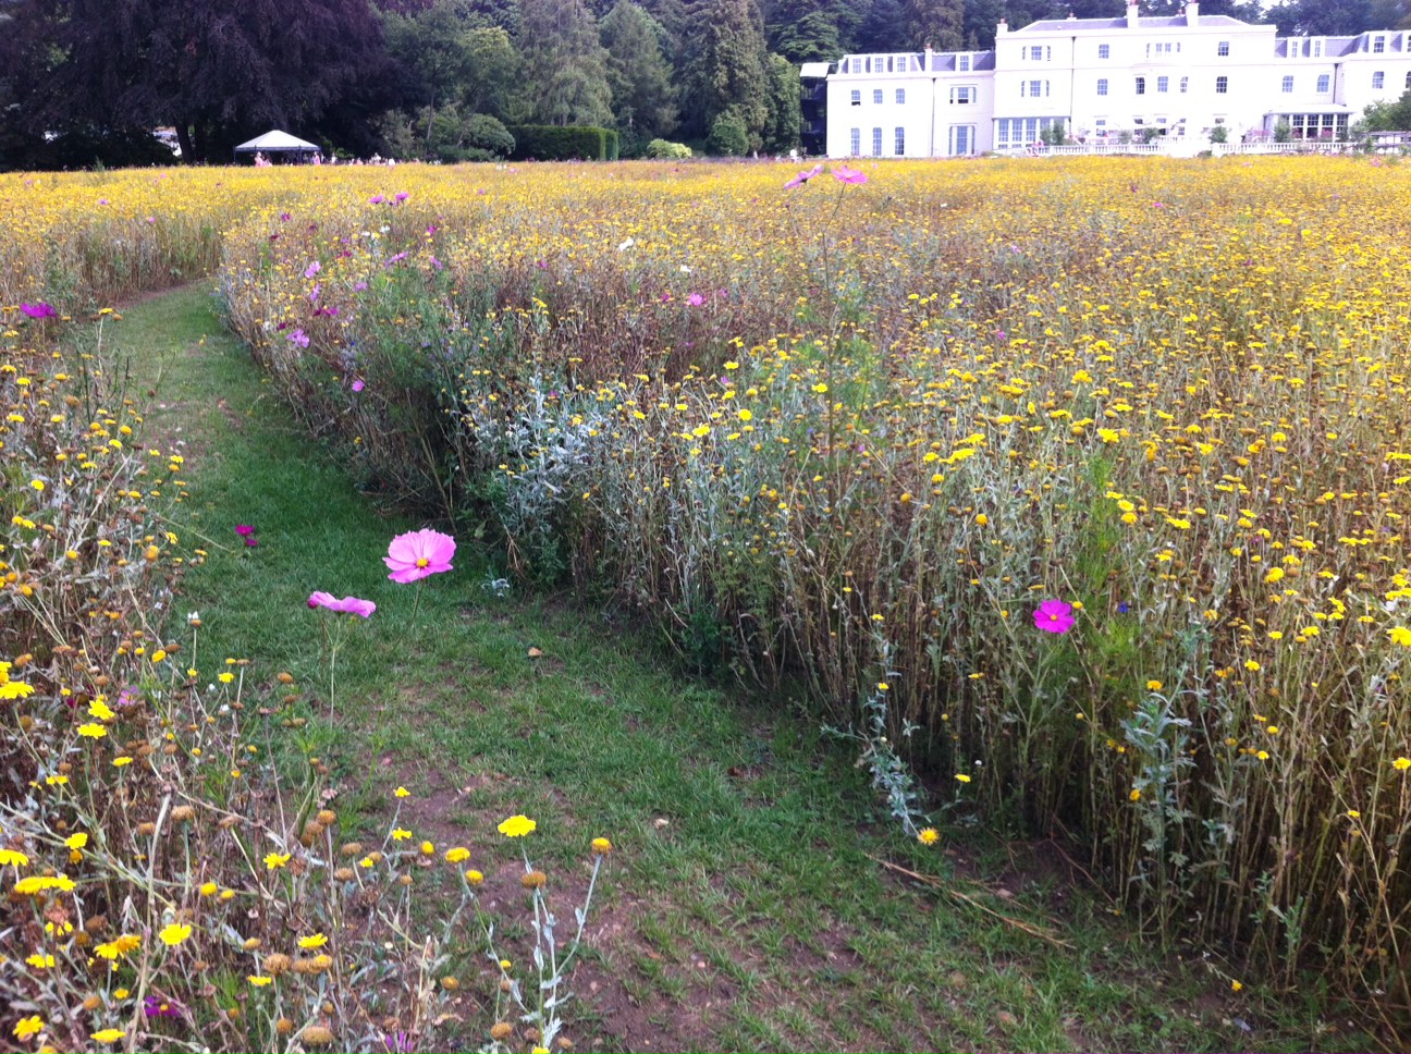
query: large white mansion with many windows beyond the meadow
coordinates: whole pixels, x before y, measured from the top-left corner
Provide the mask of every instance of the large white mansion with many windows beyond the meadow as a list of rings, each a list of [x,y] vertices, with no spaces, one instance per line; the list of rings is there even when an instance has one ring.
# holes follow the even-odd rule
[[[1160,18],[1129,3],[1125,18],[1000,23],[993,51],[848,55],[803,76],[825,78],[835,158],[1029,151],[1055,126],[1079,143],[1161,137],[1191,154],[1219,127],[1229,143],[1271,138],[1281,121],[1295,140],[1335,140],[1411,87],[1411,31],[1274,34],[1195,3]]]

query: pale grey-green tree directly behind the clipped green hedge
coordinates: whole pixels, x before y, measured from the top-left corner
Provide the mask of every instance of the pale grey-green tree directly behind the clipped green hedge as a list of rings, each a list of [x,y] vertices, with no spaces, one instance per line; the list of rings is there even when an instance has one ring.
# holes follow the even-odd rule
[[[519,0],[519,27],[525,123],[610,124],[607,54],[583,0]]]

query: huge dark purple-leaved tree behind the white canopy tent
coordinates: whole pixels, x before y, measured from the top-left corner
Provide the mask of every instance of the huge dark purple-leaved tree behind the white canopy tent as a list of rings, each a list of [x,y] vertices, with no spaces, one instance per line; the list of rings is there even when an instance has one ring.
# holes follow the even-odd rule
[[[14,0],[11,48],[27,78],[21,120],[35,131],[72,121],[176,128],[182,157],[286,126],[309,133],[332,104],[385,72],[367,0]]]

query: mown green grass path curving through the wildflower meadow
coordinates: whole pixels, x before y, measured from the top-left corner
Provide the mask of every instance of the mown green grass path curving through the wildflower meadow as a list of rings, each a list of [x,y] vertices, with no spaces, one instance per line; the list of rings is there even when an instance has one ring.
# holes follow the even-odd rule
[[[310,718],[298,746],[332,768],[354,831],[381,832],[405,785],[413,797],[401,823],[418,838],[461,841],[505,866],[494,823],[528,813],[550,889],[581,888],[587,840],[612,838],[594,947],[574,978],[580,1044],[1371,1048],[1345,1024],[1325,1029],[1316,1006],[1254,983],[1235,996],[1229,972],[1160,958],[1027,847],[974,831],[947,831],[930,849],[904,840],[854,756],[787,700],[677,676],[602,612],[495,600],[481,588],[488,555],[474,546],[463,543],[456,570],[428,580],[418,604],[418,587],[388,581],[381,556],[394,533],[422,523],[358,494],[306,437],[222,329],[207,288],[124,315],[114,339],[155,391],[147,437],[186,444],[174,529],[209,559],[186,574],[172,618],[200,612],[202,676],[227,656],[251,659],[261,683],[293,674]],[[254,525],[260,546],[244,547],[236,523]],[[378,604],[349,626],[332,718],[332,615],[306,607],[313,590]]]

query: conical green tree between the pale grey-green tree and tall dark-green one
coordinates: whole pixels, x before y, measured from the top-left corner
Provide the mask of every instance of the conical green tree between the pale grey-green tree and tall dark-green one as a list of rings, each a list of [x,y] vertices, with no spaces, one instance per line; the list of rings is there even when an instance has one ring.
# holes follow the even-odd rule
[[[598,27],[607,49],[612,116],[629,144],[665,137],[676,127],[672,68],[662,56],[665,30],[645,8],[621,0]],[[626,152],[635,152],[629,148]]]

